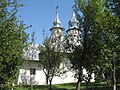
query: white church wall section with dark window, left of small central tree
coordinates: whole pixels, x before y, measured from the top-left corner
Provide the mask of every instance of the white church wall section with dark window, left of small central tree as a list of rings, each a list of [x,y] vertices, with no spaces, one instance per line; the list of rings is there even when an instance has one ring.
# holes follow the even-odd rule
[[[30,74],[31,69],[35,69],[34,74]],[[19,70],[18,85],[30,85],[31,82],[33,85],[45,84],[45,74],[39,67],[38,62],[32,62],[32,65],[25,64]]]

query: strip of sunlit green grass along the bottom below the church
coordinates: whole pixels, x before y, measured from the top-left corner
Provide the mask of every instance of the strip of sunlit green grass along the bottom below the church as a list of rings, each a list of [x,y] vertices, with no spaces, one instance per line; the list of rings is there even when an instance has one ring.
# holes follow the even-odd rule
[[[65,83],[65,84],[56,84],[52,85],[52,90],[75,90],[76,83]],[[31,90],[30,86],[16,86],[14,90]],[[35,85],[33,90],[47,90],[45,85]],[[85,83],[81,84],[81,90],[87,90]],[[106,86],[106,84],[100,83],[90,83],[88,90],[113,90],[112,86]],[[117,87],[117,90],[120,90],[120,85]]]

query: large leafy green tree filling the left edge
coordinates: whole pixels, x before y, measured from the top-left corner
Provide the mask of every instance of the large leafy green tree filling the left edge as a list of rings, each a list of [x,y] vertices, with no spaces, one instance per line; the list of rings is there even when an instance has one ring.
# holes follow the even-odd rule
[[[22,64],[27,34],[25,24],[16,17],[17,0],[0,0],[0,88],[10,86]]]

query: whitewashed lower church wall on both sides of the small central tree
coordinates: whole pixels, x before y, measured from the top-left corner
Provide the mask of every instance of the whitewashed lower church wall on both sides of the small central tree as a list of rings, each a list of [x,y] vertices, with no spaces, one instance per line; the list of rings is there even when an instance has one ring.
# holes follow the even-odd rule
[[[31,68],[36,69],[34,75],[30,75]],[[31,82],[32,85],[46,84],[46,76],[43,70],[39,67],[38,62],[32,62],[32,65],[25,64],[19,70],[18,85],[30,85]],[[53,78],[52,84],[62,84],[62,83],[71,83],[71,82],[76,82],[76,79],[74,78],[74,73],[72,71],[68,71],[61,77],[55,76]]]

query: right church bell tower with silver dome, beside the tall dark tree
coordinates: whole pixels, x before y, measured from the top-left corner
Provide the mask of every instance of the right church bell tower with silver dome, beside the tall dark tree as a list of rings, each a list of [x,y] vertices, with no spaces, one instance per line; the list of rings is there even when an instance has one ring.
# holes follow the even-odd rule
[[[81,46],[81,31],[79,29],[79,21],[77,20],[76,13],[72,12],[72,17],[68,22],[69,27],[67,32],[68,44],[72,46]]]

